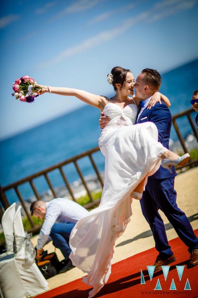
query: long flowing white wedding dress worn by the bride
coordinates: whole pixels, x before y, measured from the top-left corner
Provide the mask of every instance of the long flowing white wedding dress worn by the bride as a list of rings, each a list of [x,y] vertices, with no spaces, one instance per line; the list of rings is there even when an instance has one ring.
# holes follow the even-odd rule
[[[138,108],[122,109],[107,103],[103,113],[111,121],[103,129],[99,146],[105,156],[105,179],[98,208],[81,218],[70,235],[73,265],[86,272],[83,282],[93,287],[93,297],[111,274],[115,241],[124,232],[130,216],[131,192],[145,176],[158,170],[167,150],[158,142],[152,122],[135,124]]]

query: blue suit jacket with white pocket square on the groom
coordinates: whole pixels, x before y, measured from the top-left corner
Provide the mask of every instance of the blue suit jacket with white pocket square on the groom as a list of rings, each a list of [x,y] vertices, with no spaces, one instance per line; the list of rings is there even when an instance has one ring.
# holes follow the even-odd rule
[[[150,110],[147,110],[147,108],[145,108],[138,121],[136,119],[136,123],[144,123],[147,121],[155,123],[158,129],[158,142],[162,143],[164,147],[169,149],[172,116],[169,108],[165,105],[165,103],[156,103]],[[160,166],[155,174],[148,177],[148,180],[166,179],[177,176],[175,167],[172,167],[171,169],[172,174],[169,172],[168,169],[164,169],[162,166]]]

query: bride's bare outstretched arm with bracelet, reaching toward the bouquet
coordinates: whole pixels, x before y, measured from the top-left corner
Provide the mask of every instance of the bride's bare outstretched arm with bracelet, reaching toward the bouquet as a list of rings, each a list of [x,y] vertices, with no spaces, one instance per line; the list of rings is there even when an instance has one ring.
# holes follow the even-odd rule
[[[84,101],[85,103],[88,103],[89,105],[99,108],[100,110],[103,110],[103,107],[106,104],[106,97],[95,95],[84,90],[78,90],[78,89],[66,88],[66,87],[43,86],[39,84],[37,86],[41,87],[41,90],[37,92],[37,94],[39,95],[48,92],[48,93],[54,93],[54,94],[64,95],[64,96],[75,96],[78,99]]]

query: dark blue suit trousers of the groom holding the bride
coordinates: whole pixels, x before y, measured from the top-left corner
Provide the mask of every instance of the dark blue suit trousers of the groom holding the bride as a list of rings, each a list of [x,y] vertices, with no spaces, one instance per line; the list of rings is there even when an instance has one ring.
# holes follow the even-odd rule
[[[188,246],[188,251],[198,249],[198,238],[185,213],[177,207],[174,179],[148,180],[140,200],[142,213],[153,232],[155,248],[159,252],[159,256],[163,258],[172,256],[173,252],[168,243],[159,209],[164,212],[179,238]]]

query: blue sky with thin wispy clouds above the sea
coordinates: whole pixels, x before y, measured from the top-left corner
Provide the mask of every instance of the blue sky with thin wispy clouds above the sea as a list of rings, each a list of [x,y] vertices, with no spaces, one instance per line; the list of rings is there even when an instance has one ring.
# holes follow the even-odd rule
[[[23,75],[37,83],[109,95],[114,66],[164,73],[197,58],[198,1],[15,0],[1,2],[0,139],[84,105],[44,94],[11,96]],[[184,82],[185,84],[185,82]]]

